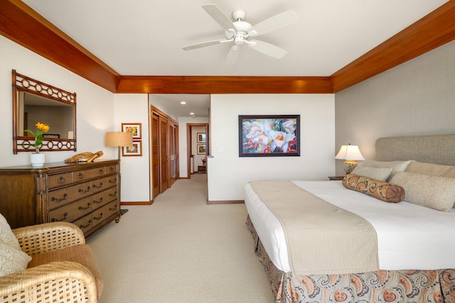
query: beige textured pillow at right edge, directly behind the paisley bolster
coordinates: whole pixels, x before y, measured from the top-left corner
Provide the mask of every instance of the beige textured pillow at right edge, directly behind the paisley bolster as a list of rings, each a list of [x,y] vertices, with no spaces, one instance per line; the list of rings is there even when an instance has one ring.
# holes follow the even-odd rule
[[[405,189],[405,201],[439,211],[451,211],[455,203],[455,178],[397,172],[391,182]]]

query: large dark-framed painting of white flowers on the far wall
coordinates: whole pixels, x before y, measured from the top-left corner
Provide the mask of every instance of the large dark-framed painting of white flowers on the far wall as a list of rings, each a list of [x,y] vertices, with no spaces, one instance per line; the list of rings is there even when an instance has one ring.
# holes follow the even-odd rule
[[[239,115],[239,157],[300,156],[300,115]]]

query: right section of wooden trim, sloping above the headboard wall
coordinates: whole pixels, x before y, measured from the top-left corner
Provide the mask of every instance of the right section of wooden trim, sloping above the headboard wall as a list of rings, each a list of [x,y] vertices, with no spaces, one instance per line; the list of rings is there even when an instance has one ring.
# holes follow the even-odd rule
[[[331,75],[333,93],[390,70],[455,39],[451,0]]]

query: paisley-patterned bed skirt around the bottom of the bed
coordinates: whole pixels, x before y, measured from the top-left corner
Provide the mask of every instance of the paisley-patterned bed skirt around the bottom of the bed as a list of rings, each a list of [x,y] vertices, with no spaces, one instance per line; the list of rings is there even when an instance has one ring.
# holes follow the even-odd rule
[[[264,266],[276,303],[446,302],[455,303],[455,270],[378,270],[346,275],[282,272],[264,250],[250,216],[255,253]]]

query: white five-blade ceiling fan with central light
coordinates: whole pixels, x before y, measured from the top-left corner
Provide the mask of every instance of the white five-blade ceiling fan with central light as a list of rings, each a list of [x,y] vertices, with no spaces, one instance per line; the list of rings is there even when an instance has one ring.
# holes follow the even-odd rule
[[[285,26],[295,23],[299,19],[295,11],[285,11],[284,13],[279,13],[278,15],[267,18],[264,21],[257,23],[255,26],[252,26],[250,23],[244,21],[245,16],[247,16],[246,11],[232,11],[232,18],[234,19],[234,21],[232,21],[228,15],[215,4],[205,4],[202,8],[213,18],[213,20],[225,29],[225,38],[188,45],[183,47],[183,50],[193,50],[195,48],[204,48],[210,45],[232,42],[234,45],[230,48],[226,59],[226,65],[232,65],[237,60],[242,44],[246,44],[253,50],[257,50],[264,55],[281,59],[286,55],[286,50],[261,40],[255,40],[253,37],[264,35],[265,33],[275,31],[279,28],[284,28]]]

